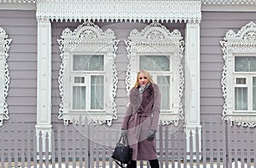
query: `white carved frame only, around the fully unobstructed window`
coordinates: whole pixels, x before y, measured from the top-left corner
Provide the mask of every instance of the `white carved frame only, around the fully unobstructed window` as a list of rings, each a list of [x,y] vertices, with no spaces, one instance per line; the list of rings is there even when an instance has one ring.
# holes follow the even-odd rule
[[[59,119],[63,119],[65,125],[68,125],[69,122],[77,124],[79,121],[84,124],[87,121],[110,126],[112,125],[112,120],[117,119],[114,97],[116,95],[118,78],[114,59],[119,40],[115,38],[111,29],[103,32],[99,26],[90,21],[79,25],[74,31],[66,28],[62,32],[61,39],[58,39],[62,60],[58,79],[61,95]],[[92,111],[71,112],[70,63],[72,61],[71,57],[77,53],[85,55],[100,53],[104,55],[103,69],[107,79],[104,81],[104,108],[100,113]]]

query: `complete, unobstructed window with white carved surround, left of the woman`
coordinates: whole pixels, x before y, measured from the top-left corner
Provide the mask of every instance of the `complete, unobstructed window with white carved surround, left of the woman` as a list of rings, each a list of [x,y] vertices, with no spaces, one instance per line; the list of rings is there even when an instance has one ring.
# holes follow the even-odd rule
[[[58,42],[62,59],[59,119],[65,125],[80,119],[112,125],[112,120],[117,119],[114,58],[119,42],[113,31],[103,32],[93,23],[84,22],[73,32],[64,30]]]

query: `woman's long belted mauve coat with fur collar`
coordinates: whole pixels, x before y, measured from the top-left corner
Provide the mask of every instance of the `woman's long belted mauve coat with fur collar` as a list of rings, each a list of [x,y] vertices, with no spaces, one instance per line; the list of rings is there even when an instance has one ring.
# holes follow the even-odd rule
[[[140,96],[138,88],[132,88],[122,129],[128,131],[128,142],[133,148],[133,160],[156,159],[155,138],[147,140],[149,130],[157,130],[160,115],[160,90],[150,84]]]

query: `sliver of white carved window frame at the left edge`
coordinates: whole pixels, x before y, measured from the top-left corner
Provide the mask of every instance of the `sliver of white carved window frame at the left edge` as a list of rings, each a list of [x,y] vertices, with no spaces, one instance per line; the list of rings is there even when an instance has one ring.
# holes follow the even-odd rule
[[[12,39],[8,38],[8,35],[2,27],[0,27],[0,126],[3,125],[4,119],[9,119],[8,104],[6,98],[9,90],[9,66],[7,59],[9,57],[9,44]]]

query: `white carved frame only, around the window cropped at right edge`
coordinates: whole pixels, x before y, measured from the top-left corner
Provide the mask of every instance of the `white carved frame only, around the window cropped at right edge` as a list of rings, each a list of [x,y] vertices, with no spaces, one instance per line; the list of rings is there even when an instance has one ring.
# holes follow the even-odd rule
[[[256,56],[256,24],[243,26],[237,33],[230,30],[224,41],[220,41],[223,51],[224,67],[222,72],[222,90],[224,96],[223,119],[230,125],[256,126],[256,112],[235,111],[235,56]],[[251,73],[252,74],[252,73]],[[254,73],[256,76],[256,73]],[[246,75],[243,77],[247,77]]]

